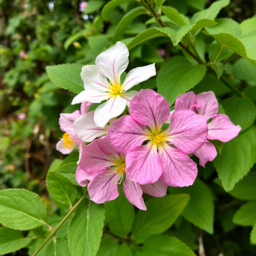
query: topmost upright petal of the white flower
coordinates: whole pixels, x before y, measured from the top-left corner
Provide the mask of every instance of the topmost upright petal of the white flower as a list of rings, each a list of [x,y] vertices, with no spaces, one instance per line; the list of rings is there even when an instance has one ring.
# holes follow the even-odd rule
[[[125,44],[117,42],[116,46],[102,52],[96,58],[96,66],[103,76],[106,76],[112,84],[120,84],[120,76],[126,70],[129,63],[129,51]]]

